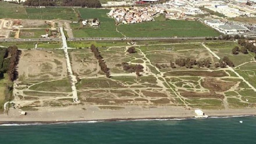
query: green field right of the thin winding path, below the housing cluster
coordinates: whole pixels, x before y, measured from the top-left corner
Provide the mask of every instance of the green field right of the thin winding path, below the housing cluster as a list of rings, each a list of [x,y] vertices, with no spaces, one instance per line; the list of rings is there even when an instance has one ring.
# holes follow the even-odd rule
[[[196,21],[166,20],[121,24],[118,31],[127,37],[208,37],[218,36],[214,29]]]

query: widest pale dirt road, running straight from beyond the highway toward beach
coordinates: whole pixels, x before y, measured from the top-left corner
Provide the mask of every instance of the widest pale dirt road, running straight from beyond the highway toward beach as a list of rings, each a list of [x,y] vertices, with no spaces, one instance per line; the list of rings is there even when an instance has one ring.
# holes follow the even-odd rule
[[[62,38],[62,44],[63,44],[63,50],[64,50],[64,53],[65,53],[65,58],[66,58],[66,62],[67,62],[67,72],[68,72],[68,75],[70,76],[70,79],[71,79],[71,88],[72,88],[72,97],[73,97],[73,101],[75,103],[79,103],[79,99],[77,97],[77,89],[76,89],[76,86],[75,84],[77,83],[77,79],[76,79],[76,76],[73,75],[73,72],[72,72],[72,67],[71,67],[71,64],[70,64],[70,59],[69,59],[69,56],[68,56],[68,52],[67,52],[67,42],[66,42],[66,37],[64,35],[64,32],[63,32],[63,27],[60,27],[60,31],[61,31],[61,38]]]

